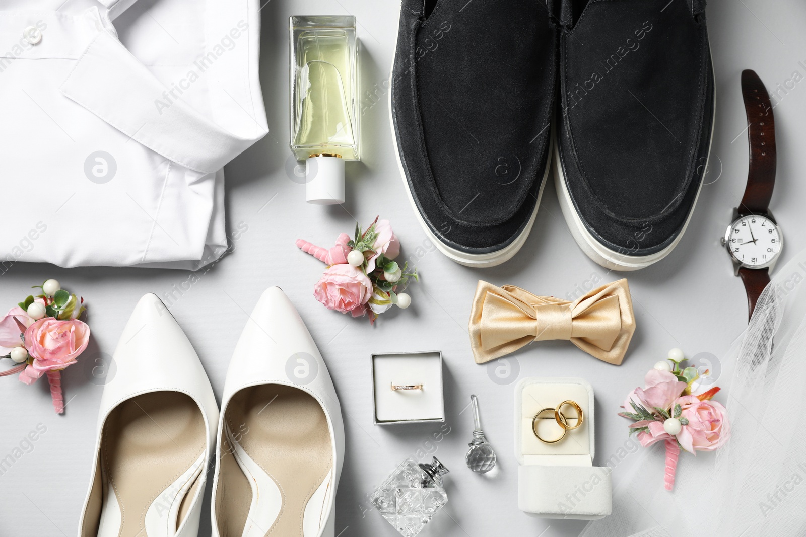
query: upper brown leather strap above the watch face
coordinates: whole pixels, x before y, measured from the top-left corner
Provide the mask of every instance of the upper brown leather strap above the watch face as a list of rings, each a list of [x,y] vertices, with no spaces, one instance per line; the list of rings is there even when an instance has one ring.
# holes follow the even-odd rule
[[[755,71],[742,71],[742,97],[747,114],[750,167],[739,216],[767,214],[775,187],[775,118],[767,88]]]

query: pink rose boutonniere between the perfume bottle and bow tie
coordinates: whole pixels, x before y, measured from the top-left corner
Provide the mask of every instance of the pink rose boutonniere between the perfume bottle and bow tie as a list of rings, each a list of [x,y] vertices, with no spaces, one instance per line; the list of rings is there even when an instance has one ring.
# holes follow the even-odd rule
[[[314,297],[326,308],[354,317],[367,314],[374,323],[393,305],[408,308],[411,304],[403,290],[419,276],[416,269],[409,272],[408,263],[401,267],[394,261],[401,244],[387,220],[376,218],[366,230],[356,224],[353,238],[341,233],[330,250],[302,239],[297,239],[297,246],[327,264],[314,285]]]

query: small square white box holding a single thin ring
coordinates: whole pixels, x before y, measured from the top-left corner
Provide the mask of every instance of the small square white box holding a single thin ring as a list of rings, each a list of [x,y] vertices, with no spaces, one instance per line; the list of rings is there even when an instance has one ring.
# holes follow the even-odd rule
[[[393,390],[393,385],[422,388]],[[372,415],[376,425],[445,421],[442,353],[372,354]]]

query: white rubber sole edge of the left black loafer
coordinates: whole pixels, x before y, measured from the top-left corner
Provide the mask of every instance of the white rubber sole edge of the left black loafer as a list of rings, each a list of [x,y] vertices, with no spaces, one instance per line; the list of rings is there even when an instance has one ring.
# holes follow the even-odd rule
[[[400,25],[398,24],[398,27]],[[397,36],[395,37],[395,43],[397,43]],[[431,242],[434,243],[434,246],[437,247],[442,254],[447,255],[451,261],[458,262],[460,265],[464,266],[473,266],[476,268],[484,268],[488,266],[496,266],[501,265],[501,263],[509,261],[509,259],[513,258],[515,254],[517,254],[518,250],[521,250],[521,247],[526,242],[526,238],[529,237],[529,233],[532,230],[532,226],[534,225],[534,220],[538,216],[538,209],[540,208],[540,200],[543,197],[543,188],[546,188],[546,183],[548,182],[548,175],[549,170],[551,168],[551,151],[554,148],[554,134],[551,134],[551,138],[549,140],[549,147],[548,147],[548,158],[546,158],[546,169],[543,171],[542,176],[542,183],[540,184],[540,190],[538,191],[538,200],[534,204],[534,211],[532,211],[532,215],[529,217],[529,221],[526,223],[526,227],[521,230],[521,233],[518,233],[517,237],[513,242],[510,242],[501,250],[496,250],[494,252],[489,252],[488,254],[469,254],[467,252],[463,252],[462,250],[457,250],[451,246],[448,246],[442,239],[440,239],[437,233],[434,233],[428,224],[426,224],[425,218],[422,217],[420,214],[420,209],[418,209],[417,203],[414,201],[414,196],[411,193],[411,189],[409,188],[409,180],[405,173],[405,168],[403,167],[403,161],[401,160],[400,155],[400,148],[397,146],[397,132],[395,131],[395,120],[392,113],[392,89],[391,89],[391,81],[393,80],[393,72],[395,68],[395,60],[397,58],[397,52],[395,52],[395,56],[392,59],[392,68],[389,72],[389,128],[392,130],[392,139],[394,142],[395,147],[395,157],[397,158],[397,168],[401,173],[401,179],[403,180],[403,186],[405,188],[406,195],[409,197],[409,203],[414,211],[414,214],[417,215],[417,220],[420,222],[420,226],[426,232],[428,238],[430,238]],[[553,130],[552,130],[553,133]]]

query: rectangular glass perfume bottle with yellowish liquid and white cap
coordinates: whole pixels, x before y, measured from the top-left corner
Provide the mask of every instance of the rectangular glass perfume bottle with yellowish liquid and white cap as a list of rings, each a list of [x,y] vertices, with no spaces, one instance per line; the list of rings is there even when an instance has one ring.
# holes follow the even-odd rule
[[[355,17],[294,16],[291,151],[305,159],[305,198],[344,202],[344,161],[359,159]]]

